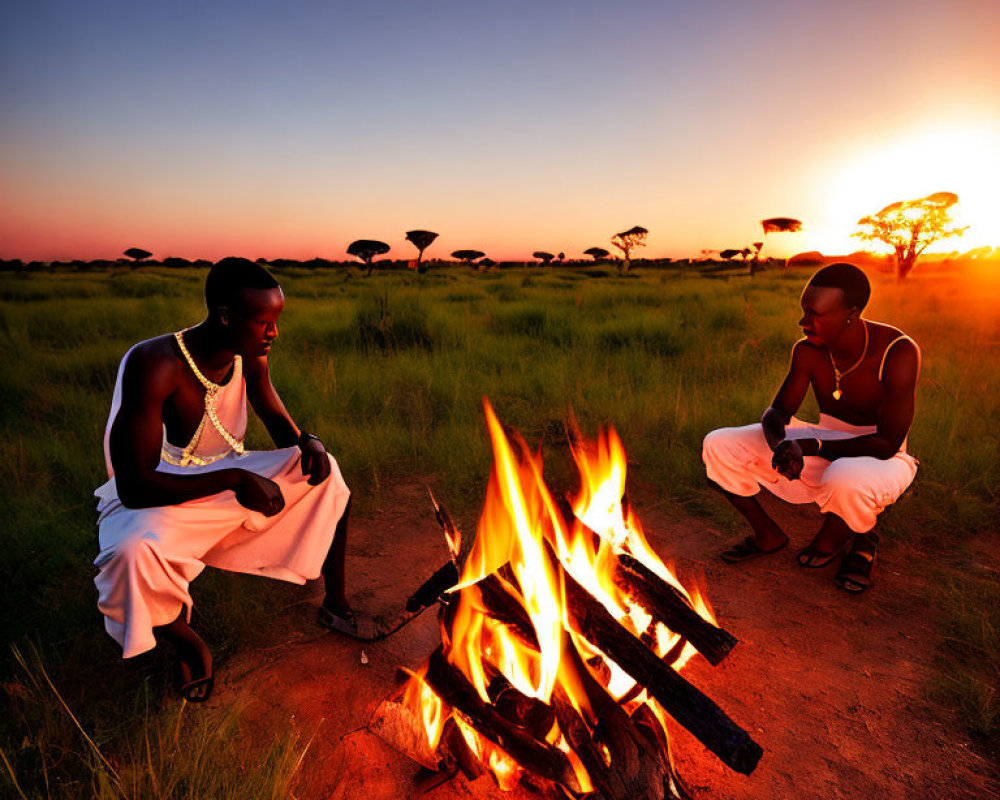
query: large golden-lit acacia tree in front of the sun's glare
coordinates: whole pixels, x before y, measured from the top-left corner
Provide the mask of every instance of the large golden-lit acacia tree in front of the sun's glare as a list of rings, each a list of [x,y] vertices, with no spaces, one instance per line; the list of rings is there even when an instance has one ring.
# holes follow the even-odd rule
[[[900,200],[877,214],[862,217],[862,230],[852,234],[862,241],[882,242],[896,254],[896,280],[910,274],[920,254],[934,242],[961,236],[968,225],[954,223],[949,210],[958,202],[952,192],[935,192],[919,200]]]

